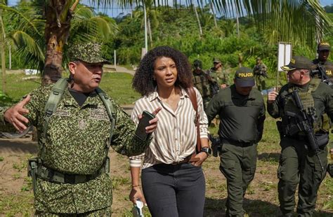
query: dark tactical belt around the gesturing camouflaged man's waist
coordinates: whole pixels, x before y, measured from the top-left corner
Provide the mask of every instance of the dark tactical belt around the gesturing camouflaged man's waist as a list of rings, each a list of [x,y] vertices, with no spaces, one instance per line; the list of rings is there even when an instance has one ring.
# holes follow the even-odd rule
[[[38,165],[37,167],[37,177],[52,183],[63,183],[63,184],[78,184],[85,183],[96,179],[100,174],[105,172],[105,166],[100,168],[95,174],[89,175],[78,175],[78,174],[63,174],[61,172],[55,171],[44,167],[43,165]]]

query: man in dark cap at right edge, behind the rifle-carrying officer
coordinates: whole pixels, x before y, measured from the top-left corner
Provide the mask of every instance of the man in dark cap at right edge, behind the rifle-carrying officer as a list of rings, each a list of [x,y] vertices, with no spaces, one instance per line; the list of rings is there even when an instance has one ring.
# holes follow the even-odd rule
[[[312,63],[314,70],[319,70],[320,66],[322,66],[322,69],[325,71],[326,75],[328,76],[329,80],[324,80],[325,83],[329,83],[329,81],[333,82],[333,64],[332,62],[328,61],[329,57],[329,51],[331,50],[331,46],[327,42],[321,42],[317,46],[317,52],[318,52],[318,58],[313,59]],[[318,73],[313,74],[314,78],[318,78]],[[322,78],[323,80],[324,78]],[[333,85],[331,85],[333,88]]]

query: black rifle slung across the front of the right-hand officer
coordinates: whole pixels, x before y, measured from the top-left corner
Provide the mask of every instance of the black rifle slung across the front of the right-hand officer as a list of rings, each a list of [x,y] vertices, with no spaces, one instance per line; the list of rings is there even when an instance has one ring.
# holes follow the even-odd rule
[[[292,97],[294,98],[294,101],[296,102],[296,106],[301,111],[301,117],[299,121],[299,125],[301,129],[306,133],[306,137],[308,139],[308,143],[310,144],[311,149],[315,152],[315,155],[318,158],[318,161],[320,163],[320,167],[322,168],[322,172],[325,172],[324,167],[322,167],[322,162],[319,158],[319,146],[318,141],[315,138],[315,132],[313,130],[313,123],[315,121],[315,112],[313,108],[308,108],[308,112],[306,112],[306,109],[304,109],[303,104],[301,102],[301,98],[299,97],[299,92],[297,90],[294,90],[292,92]]]

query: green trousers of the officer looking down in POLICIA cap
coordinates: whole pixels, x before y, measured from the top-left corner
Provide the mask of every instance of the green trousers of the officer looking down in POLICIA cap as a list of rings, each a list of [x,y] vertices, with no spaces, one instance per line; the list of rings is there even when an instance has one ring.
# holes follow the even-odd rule
[[[256,146],[223,140],[220,170],[227,179],[226,216],[244,216],[243,197],[256,172]]]

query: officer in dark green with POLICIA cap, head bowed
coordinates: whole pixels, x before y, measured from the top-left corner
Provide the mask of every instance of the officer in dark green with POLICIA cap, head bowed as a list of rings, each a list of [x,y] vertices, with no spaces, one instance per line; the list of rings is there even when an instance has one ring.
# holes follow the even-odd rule
[[[256,146],[263,134],[265,105],[261,92],[253,86],[252,69],[237,69],[234,85],[220,90],[206,111],[209,122],[220,116],[220,170],[228,188],[226,216],[244,216],[243,198],[256,171]]]

